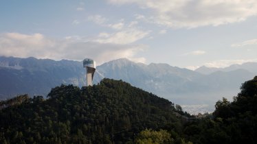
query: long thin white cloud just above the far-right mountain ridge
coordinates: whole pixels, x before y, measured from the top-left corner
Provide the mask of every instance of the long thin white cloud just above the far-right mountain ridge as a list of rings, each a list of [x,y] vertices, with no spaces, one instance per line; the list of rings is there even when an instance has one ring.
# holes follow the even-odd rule
[[[213,62],[206,62],[204,65],[206,67],[224,68],[224,67],[229,67],[232,64],[243,64],[245,62],[257,62],[257,59],[249,59],[249,60],[215,60]]]

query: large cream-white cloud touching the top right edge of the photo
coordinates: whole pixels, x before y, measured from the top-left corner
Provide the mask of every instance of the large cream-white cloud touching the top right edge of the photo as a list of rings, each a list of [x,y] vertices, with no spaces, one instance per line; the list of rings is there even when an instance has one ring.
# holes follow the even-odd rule
[[[152,10],[153,16],[137,14],[136,19],[166,27],[201,27],[245,21],[257,14],[256,0],[109,0],[115,5],[135,3],[139,8]]]

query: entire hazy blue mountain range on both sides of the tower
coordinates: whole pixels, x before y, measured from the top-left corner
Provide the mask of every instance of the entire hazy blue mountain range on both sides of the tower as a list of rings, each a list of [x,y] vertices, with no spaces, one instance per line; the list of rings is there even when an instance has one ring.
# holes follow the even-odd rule
[[[214,104],[221,97],[230,99],[236,95],[241,83],[254,77],[256,65],[247,63],[239,65],[239,69],[228,67],[203,74],[168,64],[146,65],[123,58],[98,66],[93,82],[97,84],[108,77],[129,82],[177,104]],[[82,62],[0,57],[1,99],[23,93],[46,95],[60,84],[85,85]]]

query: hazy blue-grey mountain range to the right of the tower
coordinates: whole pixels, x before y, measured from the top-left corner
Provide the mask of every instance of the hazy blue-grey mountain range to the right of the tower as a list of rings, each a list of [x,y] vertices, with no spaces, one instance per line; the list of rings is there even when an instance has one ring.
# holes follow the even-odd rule
[[[124,80],[179,104],[214,104],[220,97],[236,95],[242,82],[254,77],[244,69],[203,75],[168,64],[137,64],[126,59],[97,67],[102,76]]]

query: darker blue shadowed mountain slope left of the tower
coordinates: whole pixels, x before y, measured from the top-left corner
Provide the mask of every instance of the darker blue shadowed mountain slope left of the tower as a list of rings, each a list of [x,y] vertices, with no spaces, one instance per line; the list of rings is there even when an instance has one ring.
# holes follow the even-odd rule
[[[17,94],[46,95],[59,84],[84,85],[81,62],[0,57],[0,98]]]

